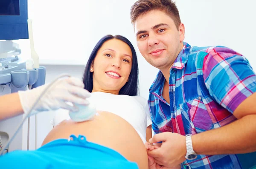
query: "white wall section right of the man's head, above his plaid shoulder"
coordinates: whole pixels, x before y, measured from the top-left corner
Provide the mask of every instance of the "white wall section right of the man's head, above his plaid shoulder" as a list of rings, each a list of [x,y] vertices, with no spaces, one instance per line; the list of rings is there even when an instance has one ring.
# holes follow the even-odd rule
[[[247,57],[256,70],[256,1],[176,0],[176,4],[185,24],[186,42],[227,46]]]

